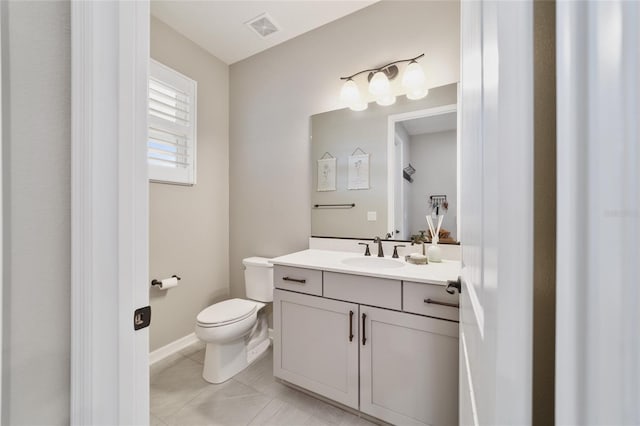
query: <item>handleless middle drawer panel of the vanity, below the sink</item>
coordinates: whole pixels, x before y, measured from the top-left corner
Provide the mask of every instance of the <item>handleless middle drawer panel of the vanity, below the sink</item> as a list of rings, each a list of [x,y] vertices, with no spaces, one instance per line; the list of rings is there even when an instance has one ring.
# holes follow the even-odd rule
[[[324,273],[324,297],[400,310],[401,282],[361,275]]]

